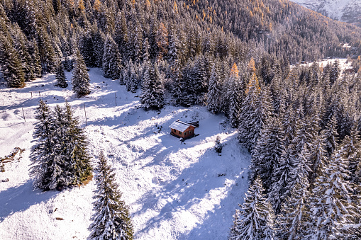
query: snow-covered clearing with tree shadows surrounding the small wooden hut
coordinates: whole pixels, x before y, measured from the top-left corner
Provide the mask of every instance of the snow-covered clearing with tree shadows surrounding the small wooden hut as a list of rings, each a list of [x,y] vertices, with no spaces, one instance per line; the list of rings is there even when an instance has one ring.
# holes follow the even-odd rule
[[[69,81],[71,74],[66,75]],[[85,127],[93,163],[103,150],[116,168],[135,239],[226,239],[248,188],[250,155],[238,144],[235,130],[220,124],[225,118],[203,107],[166,105],[159,114],[146,112],[138,108],[137,94],[105,79],[99,69],[89,75],[91,94],[84,98],[74,96],[71,84],[55,87],[52,74],[25,88],[0,88],[0,156],[14,147],[26,149],[21,159],[6,163],[6,171],[0,172],[0,239],[89,236],[94,181],[62,192],[33,190],[29,154],[40,98],[50,106],[67,100]],[[199,136],[181,144],[169,129],[177,119],[199,120]],[[226,144],[221,156],[213,150],[216,135]],[[1,182],[6,178],[9,182]]]

